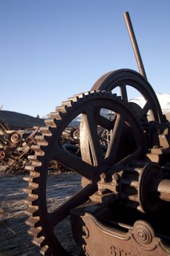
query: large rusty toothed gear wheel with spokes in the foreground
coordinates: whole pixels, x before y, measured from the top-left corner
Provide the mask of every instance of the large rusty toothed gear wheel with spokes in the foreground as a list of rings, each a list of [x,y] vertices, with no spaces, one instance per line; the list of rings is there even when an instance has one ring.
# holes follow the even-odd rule
[[[96,118],[96,112],[99,113],[101,108],[113,111],[116,115],[105,154],[102,151],[97,132],[100,115],[97,114]],[[88,134],[93,163],[86,161],[85,157],[80,158],[70,154],[60,143],[64,129],[80,114],[84,120],[83,130],[85,135]],[[108,122],[110,126],[110,121],[107,118],[104,119],[101,116],[102,120],[104,120],[104,125]],[[25,178],[28,181],[28,187],[24,189],[28,193],[26,214],[29,217],[26,223],[31,226],[28,233],[34,237],[34,244],[41,247],[42,255],[70,255],[53,233],[54,227],[69,215],[70,209],[85,203],[96,192],[101,173],[106,173],[115,164],[121,165],[130,159],[141,159],[144,156],[146,153],[144,132],[128,106],[123,104],[120,97],[109,91],[93,91],[69,98],[66,102],[62,102],[62,105],[57,107],[54,113],[50,114],[50,118],[45,121],[45,124],[46,127],[40,128],[42,135],[36,136],[37,145],[31,147],[35,154],[29,156],[30,165],[26,167],[30,171],[30,176]],[[136,147],[134,151],[129,152],[117,162],[117,146],[120,143],[124,124],[131,127]],[[83,151],[84,141],[80,141],[80,144]],[[80,192],[49,213],[47,211],[46,186],[51,159],[80,173],[89,182]]]

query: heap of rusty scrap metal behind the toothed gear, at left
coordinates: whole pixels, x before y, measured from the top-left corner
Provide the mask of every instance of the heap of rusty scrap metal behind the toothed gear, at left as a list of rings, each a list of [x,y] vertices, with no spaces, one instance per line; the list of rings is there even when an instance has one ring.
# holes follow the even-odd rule
[[[0,123],[0,165],[2,170],[9,171],[9,173],[25,171],[26,164],[28,164],[28,155],[34,154],[31,146],[36,145],[35,136],[41,134],[39,128],[11,130],[7,124]],[[79,144],[78,127],[68,127],[63,132],[61,143],[67,150],[74,151],[76,154],[77,144]],[[63,165],[53,159],[50,162],[49,169],[66,170]]]

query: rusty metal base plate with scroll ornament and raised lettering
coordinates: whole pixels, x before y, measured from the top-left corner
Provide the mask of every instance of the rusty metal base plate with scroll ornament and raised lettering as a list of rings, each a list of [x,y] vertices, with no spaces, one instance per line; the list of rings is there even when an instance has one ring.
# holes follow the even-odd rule
[[[115,256],[162,256],[169,255],[161,238],[155,235],[149,223],[138,220],[133,226],[126,225],[126,230],[102,225],[92,214],[72,216],[75,223],[74,234],[77,244],[81,244],[85,255]],[[79,224],[82,222],[82,229]],[[80,224],[81,225],[81,224]],[[121,225],[121,224],[120,224]]]

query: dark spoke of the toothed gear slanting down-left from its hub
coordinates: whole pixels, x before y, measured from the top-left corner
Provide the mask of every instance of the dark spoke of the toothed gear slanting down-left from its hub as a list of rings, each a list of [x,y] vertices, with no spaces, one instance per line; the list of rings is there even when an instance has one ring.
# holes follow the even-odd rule
[[[93,195],[97,190],[96,184],[89,184],[88,186],[81,189],[79,192],[70,197],[66,202],[59,206],[53,213],[49,214],[49,221],[52,227],[61,222],[64,218],[69,215],[69,211],[72,208],[82,205],[89,200],[90,195]]]

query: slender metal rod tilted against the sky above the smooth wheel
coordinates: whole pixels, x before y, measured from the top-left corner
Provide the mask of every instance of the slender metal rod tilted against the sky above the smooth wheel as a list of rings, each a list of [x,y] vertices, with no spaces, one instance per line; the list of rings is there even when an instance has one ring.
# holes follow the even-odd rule
[[[131,39],[131,45],[132,45],[132,48],[134,50],[134,55],[135,55],[136,62],[137,62],[138,68],[139,68],[139,72],[147,80],[147,75],[146,75],[145,70],[144,70],[144,65],[143,65],[142,58],[141,58],[141,55],[140,55],[140,52],[139,52],[139,47],[137,45],[136,37],[135,37],[135,34],[134,34],[134,29],[133,29],[133,26],[131,24],[131,18],[129,16],[128,12],[124,12],[123,15],[124,15],[124,18],[125,18],[125,24],[126,24],[127,29],[128,29],[128,34],[129,34],[129,37]]]

